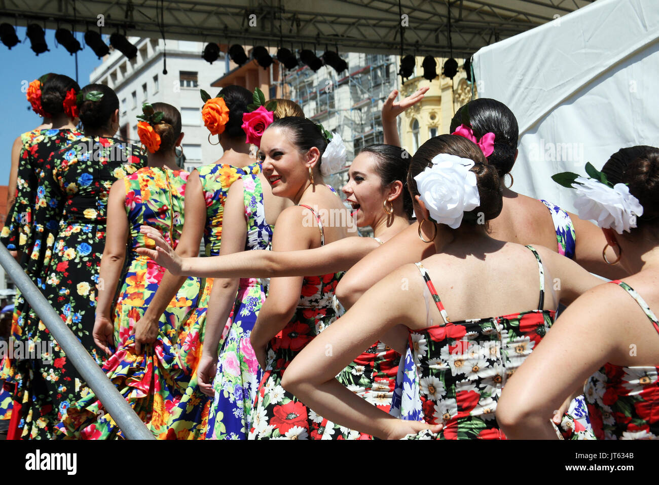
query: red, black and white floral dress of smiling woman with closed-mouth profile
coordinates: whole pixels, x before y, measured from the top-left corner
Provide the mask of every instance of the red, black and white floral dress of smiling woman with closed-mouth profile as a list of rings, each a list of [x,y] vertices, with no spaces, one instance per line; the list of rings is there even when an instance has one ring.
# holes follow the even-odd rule
[[[321,245],[324,245],[320,217],[310,207],[303,207],[318,220]],[[358,436],[358,432],[348,428],[335,430],[333,423],[328,424],[322,416],[281,387],[283,374],[293,358],[335,321],[332,297],[340,277],[341,273],[304,277],[300,302],[293,318],[266,348],[266,368],[252,409],[248,439],[347,439]]]

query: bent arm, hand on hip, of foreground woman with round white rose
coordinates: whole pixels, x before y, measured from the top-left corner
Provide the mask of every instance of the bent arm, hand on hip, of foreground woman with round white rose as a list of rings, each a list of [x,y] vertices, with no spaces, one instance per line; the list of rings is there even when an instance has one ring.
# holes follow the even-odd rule
[[[408,290],[401,290],[401,278],[409,278]],[[376,437],[401,438],[426,428],[438,432],[441,425],[394,418],[335,379],[364,348],[399,322],[409,322],[412,328],[425,325],[425,312],[416,311],[425,306],[422,284],[416,268],[409,266],[384,278],[306,345],[286,369],[281,385],[324,418]]]

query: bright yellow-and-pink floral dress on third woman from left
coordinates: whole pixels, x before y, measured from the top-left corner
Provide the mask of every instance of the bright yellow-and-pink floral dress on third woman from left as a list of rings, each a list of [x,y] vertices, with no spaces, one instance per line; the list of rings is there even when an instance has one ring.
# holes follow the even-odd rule
[[[188,175],[183,170],[147,167],[124,179],[130,227],[129,264],[114,312],[114,338],[119,348],[103,366],[107,377],[146,426],[162,439],[177,438],[178,432],[187,437],[190,430],[200,426],[171,416],[192,380],[201,345],[198,325],[187,318],[197,304],[200,284],[198,278],[185,280],[160,318],[156,342],[145,345],[142,354],[136,354],[130,329],[144,315],[165,269],[134,249],[154,247],[154,242],[140,233],[142,224],[158,228],[169,244],[177,245],[183,229]],[[173,422],[183,429],[170,433]],[[62,436],[78,439],[124,437],[92,393],[69,406],[57,430]]]

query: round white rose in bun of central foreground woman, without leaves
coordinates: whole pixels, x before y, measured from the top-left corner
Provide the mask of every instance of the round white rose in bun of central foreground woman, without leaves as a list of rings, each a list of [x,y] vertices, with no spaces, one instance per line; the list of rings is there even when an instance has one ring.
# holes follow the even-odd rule
[[[480,205],[473,166],[469,158],[440,153],[432,159],[432,166],[415,176],[420,199],[432,220],[457,229],[465,212]]]

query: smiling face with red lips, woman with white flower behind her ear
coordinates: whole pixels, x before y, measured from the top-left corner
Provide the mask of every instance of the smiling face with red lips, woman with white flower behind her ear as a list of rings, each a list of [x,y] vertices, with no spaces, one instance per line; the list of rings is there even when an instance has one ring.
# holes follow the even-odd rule
[[[307,187],[309,180],[309,156],[301,154],[290,141],[287,129],[270,127],[261,138],[258,159],[262,172],[270,185],[273,195],[287,197],[295,201]]]

